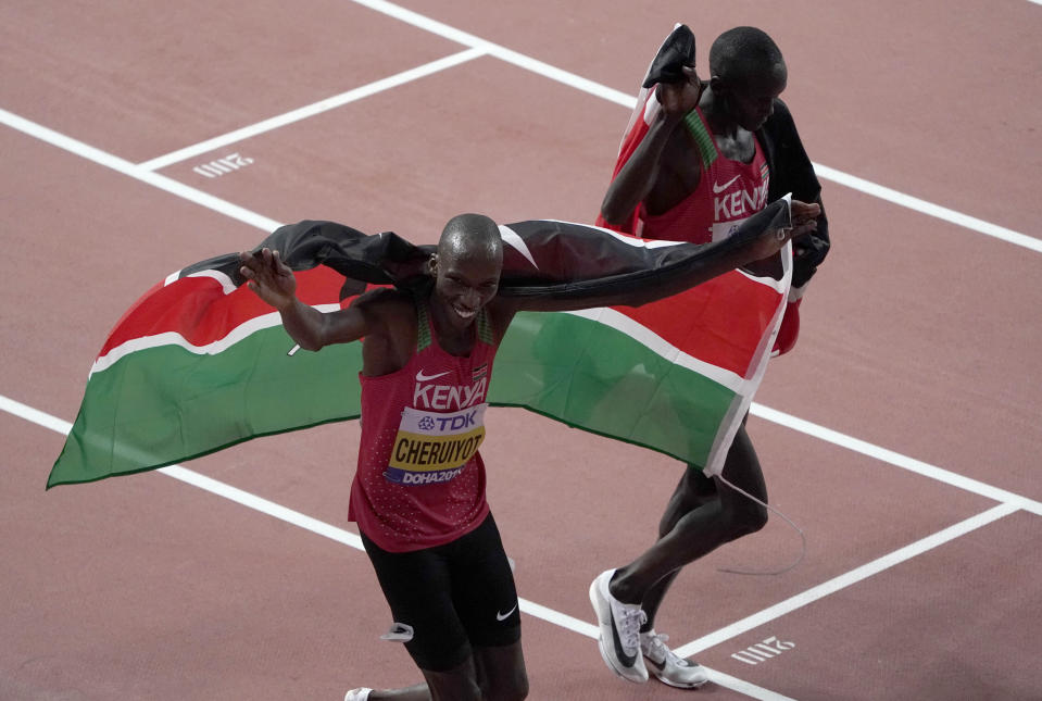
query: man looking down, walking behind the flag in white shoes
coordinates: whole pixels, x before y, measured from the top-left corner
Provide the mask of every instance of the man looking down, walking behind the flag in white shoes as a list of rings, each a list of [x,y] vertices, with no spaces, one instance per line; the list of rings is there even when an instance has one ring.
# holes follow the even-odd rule
[[[643,124],[636,123],[624,142],[599,224],[644,238],[702,243],[726,238],[786,192],[820,204],[820,186],[789,110],[778,99],[788,71],[777,45],[754,27],[730,29],[713,42],[710,71],[710,80],[701,82],[694,36],[678,26],[644,82],[644,88],[655,89],[638,107]],[[802,291],[828,251],[824,212],[817,214],[816,231],[793,246],[792,285]],[[770,270],[763,263],[756,267],[758,273]],[[776,352],[795,341],[798,304],[790,301]],[[744,423],[721,474],[767,501]],[[650,667],[670,686],[704,684],[708,677],[700,665],[665,646],[666,636],[655,631],[655,615],[683,565],[759,530],[766,521],[758,503],[688,465],[662,516],[658,540],[630,564],[602,573],[590,588],[608,667],[631,681],[645,681]]]

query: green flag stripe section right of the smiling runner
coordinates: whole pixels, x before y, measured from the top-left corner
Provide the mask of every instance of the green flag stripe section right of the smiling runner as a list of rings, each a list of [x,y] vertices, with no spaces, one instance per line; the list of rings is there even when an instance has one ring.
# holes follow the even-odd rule
[[[738,401],[625,333],[566,313],[519,313],[489,388],[492,404],[524,406],[699,466]]]

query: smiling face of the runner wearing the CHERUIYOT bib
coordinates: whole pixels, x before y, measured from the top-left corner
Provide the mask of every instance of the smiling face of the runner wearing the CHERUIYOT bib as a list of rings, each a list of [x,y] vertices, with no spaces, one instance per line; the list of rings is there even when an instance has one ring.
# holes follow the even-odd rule
[[[435,295],[453,326],[473,324],[478,311],[495,297],[502,266],[501,260],[487,254],[438,256]]]

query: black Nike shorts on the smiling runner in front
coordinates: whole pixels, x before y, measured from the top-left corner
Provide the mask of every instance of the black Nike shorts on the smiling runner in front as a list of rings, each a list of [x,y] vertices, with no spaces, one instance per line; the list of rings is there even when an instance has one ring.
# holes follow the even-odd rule
[[[420,669],[445,672],[475,647],[520,640],[514,575],[492,514],[436,548],[387,552],[364,534],[362,543],[394,622],[412,627],[405,649]]]

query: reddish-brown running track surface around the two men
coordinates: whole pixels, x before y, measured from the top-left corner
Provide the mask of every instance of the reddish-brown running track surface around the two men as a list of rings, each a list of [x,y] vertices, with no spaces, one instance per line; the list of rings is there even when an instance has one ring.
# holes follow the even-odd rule
[[[487,40],[489,54],[158,172],[279,222],[418,242],[460,211],[591,221],[628,109],[544,68],[625,97],[673,22],[695,29],[702,66],[720,30],[754,24],[786,54],[784,97],[816,163],[1042,238],[1042,8],[1027,0],[737,1],[699,15],[678,0],[503,4],[380,5],[438,26],[348,0],[0,5],[0,699],[339,699],[417,679],[378,640],[386,604],[342,542],[158,473],[43,492],[55,429],[124,309],[264,236],[104,154],[145,163]],[[55,148],[38,127],[103,153]],[[254,162],[193,171],[233,152]],[[717,571],[794,558],[798,536],[771,518],[685,571],[658,627],[731,675],[699,697],[1040,698],[1042,251],[824,187],[834,249],[758,401],[896,456],[757,411],[771,501],[806,531],[806,559],[777,577]],[[590,580],[653,539],[680,466],[520,411],[489,425],[490,501],[519,592],[579,622],[526,609],[531,698],[692,696],[616,679],[583,634]],[[325,426],[187,467],[353,531],[356,440],[353,424]],[[951,537],[922,540],[939,533]],[[771,636],[795,647],[756,665],[732,656]]]

